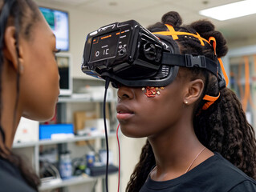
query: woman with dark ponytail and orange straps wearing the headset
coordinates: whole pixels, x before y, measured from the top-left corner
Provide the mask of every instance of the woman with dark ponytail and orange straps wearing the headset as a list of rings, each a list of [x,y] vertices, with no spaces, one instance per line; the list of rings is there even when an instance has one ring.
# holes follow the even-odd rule
[[[217,65],[228,50],[222,34],[209,21],[181,22],[169,12],[148,30],[172,32],[181,54]],[[254,130],[223,81],[209,70],[180,67],[165,87],[119,87],[122,132],[148,138],[126,191],[256,191]]]

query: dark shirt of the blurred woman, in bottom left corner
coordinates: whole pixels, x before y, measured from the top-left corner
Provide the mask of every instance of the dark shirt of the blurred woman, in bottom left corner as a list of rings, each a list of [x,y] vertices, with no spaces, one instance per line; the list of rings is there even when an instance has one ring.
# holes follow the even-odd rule
[[[0,158],[0,192],[35,192],[28,186],[18,167]]]

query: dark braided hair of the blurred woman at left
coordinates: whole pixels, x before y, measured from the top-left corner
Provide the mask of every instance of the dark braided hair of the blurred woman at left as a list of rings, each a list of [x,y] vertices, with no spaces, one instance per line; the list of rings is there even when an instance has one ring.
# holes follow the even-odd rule
[[[6,30],[6,26],[14,26],[15,27],[15,38],[17,41],[16,44],[16,54],[18,59],[18,39],[23,38],[31,40],[33,37],[32,30],[35,22],[39,20],[39,9],[36,6],[33,0],[0,0],[0,122],[2,118],[2,106],[4,103],[2,102],[2,68],[5,62],[5,55],[3,54],[4,45],[4,34]],[[6,61],[9,62],[9,61]],[[19,94],[19,74],[17,74],[16,79],[16,101],[15,101],[15,109],[14,109],[14,119],[16,116],[16,109],[18,106],[18,94]],[[38,186],[40,184],[39,177],[31,170],[28,166],[26,166],[25,161],[10,151],[5,144],[5,132],[2,129],[2,125],[0,125],[0,142],[4,149],[0,147],[0,158],[6,159],[6,161],[12,163],[14,166],[18,167],[21,171],[23,178],[26,180],[27,184],[31,186],[33,189],[38,191]],[[6,154],[7,152],[7,154]]]

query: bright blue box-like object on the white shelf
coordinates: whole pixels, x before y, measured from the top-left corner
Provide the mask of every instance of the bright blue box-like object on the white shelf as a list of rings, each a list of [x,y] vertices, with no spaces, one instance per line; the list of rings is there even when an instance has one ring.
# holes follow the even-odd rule
[[[74,134],[73,124],[53,124],[39,126],[39,139],[51,139],[51,134]]]

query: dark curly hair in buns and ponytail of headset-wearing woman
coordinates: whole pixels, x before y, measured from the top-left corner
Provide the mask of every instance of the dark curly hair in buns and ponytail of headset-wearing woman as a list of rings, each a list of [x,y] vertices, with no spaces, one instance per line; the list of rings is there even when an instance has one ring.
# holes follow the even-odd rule
[[[213,46],[208,43],[201,46],[201,42],[193,36],[178,35],[176,42],[180,47],[181,54],[205,55],[205,57],[217,61],[217,58],[225,56],[228,51],[226,39],[221,32],[214,29],[213,23],[207,20],[181,26],[181,16],[177,12],[171,11],[163,15],[161,22],[148,26],[148,30],[151,32],[166,31],[168,29],[165,24],[173,26],[176,31],[198,33],[202,38],[214,37],[216,39],[217,55],[214,54]],[[255,179],[256,142],[254,129],[246,121],[246,114],[242,110],[237,96],[227,87],[219,90],[217,78],[206,70],[197,67],[183,68],[183,70],[188,70],[191,80],[201,78],[205,82],[201,98],[193,111],[193,127],[197,138],[209,150],[217,151],[234,166]],[[209,106],[207,110],[201,110],[205,104],[205,101],[202,100],[205,94],[217,96],[219,93],[220,98],[212,106]],[[156,165],[156,160],[152,146],[147,140],[140,154],[140,162],[137,163],[131,175],[126,191],[139,191],[154,165]]]

